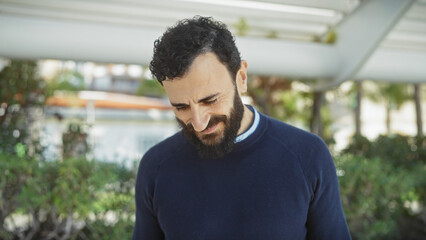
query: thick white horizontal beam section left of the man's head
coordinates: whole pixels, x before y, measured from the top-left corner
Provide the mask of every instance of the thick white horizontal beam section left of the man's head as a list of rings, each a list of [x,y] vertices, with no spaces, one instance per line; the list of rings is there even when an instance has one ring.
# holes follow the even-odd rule
[[[0,15],[0,56],[148,65],[161,32]]]

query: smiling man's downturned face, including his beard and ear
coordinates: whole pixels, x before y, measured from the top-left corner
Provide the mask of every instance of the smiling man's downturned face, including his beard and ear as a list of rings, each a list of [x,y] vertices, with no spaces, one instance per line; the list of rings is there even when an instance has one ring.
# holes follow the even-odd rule
[[[216,55],[205,53],[183,77],[163,84],[179,125],[200,156],[216,158],[232,151],[244,113],[239,92],[245,86],[238,74],[234,83]]]

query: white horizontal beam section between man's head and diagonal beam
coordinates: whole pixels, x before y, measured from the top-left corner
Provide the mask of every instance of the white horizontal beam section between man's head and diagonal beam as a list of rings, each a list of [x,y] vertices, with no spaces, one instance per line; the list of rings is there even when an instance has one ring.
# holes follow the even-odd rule
[[[329,45],[276,39],[237,38],[249,73],[295,78],[331,78],[338,71],[339,56]]]

